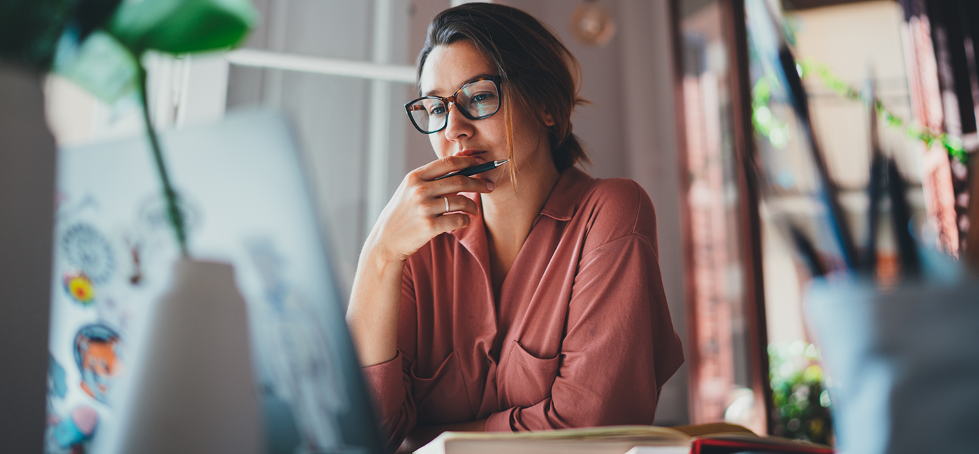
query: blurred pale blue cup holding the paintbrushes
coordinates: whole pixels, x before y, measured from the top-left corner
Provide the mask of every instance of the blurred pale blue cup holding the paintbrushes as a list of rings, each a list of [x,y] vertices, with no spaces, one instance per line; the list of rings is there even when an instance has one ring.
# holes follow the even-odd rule
[[[921,278],[886,292],[816,280],[806,300],[841,452],[974,452],[979,281],[922,250]]]

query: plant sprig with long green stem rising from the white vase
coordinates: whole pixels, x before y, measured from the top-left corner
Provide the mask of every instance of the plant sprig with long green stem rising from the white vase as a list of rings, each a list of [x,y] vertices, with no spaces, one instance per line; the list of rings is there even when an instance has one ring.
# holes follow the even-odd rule
[[[118,0],[104,0],[114,1]],[[79,19],[69,24],[61,38],[54,68],[107,103],[133,91],[138,93],[163,186],[167,220],[180,250],[189,257],[177,191],[170,184],[163,150],[150,118],[147,72],[142,60],[147,51],[176,55],[229,49],[240,43],[256,23],[256,10],[249,0],[123,0],[106,12],[106,20],[85,23],[81,15],[77,16]]]

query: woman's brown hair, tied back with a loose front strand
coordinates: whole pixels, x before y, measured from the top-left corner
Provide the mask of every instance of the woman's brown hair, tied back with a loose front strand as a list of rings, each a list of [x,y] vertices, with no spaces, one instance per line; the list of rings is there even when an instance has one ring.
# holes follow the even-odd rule
[[[502,78],[506,107],[507,152],[513,159],[512,107],[538,114],[546,111],[554,119],[547,126],[551,158],[562,171],[575,163],[590,163],[581,142],[571,131],[571,112],[585,101],[578,96],[577,79],[582,69],[568,48],[542,23],[513,7],[493,3],[465,3],[449,8],[428,28],[425,47],[418,55],[418,79],[425,60],[436,46],[468,39],[489,58]],[[572,72],[574,68],[574,73]],[[510,165],[515,177],[515,165]],[[516,180],[514,179],[514,182]]]

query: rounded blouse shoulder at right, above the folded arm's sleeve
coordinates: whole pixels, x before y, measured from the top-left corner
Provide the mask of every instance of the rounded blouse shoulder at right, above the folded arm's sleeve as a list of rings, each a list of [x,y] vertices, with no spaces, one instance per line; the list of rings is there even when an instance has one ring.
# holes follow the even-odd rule
[[[575,217],[587,220],[588,241],[597,247],[629,235],[656,245],[656,211],[649,195],[628,178],[592,180]]]

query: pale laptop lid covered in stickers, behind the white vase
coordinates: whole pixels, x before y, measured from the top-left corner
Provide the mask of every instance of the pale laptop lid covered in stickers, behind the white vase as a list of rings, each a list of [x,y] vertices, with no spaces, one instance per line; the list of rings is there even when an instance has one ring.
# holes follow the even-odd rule
[[[231,263],[247,301],[265,451],[382,452],[287,122],[161,139],[191,255]],[[105,452],[179,250],[146,137],[61,150],[57,187],[45,450]]]

